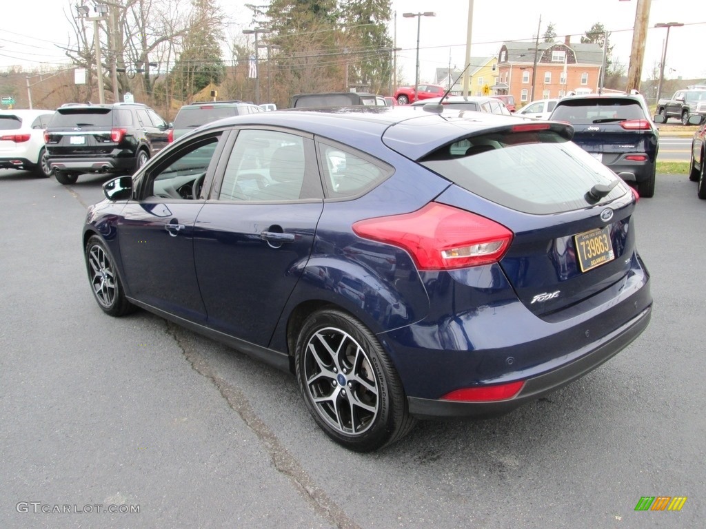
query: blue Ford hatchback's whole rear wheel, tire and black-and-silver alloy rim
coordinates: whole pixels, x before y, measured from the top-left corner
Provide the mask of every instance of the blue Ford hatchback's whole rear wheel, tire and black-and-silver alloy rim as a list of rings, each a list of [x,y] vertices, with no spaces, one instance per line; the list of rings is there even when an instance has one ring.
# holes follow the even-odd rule
[[[414,426],[392,361],[375,335],[347,313],[314,312],[299,332],[295,360],[306,407],[347,449],[376,450]]]

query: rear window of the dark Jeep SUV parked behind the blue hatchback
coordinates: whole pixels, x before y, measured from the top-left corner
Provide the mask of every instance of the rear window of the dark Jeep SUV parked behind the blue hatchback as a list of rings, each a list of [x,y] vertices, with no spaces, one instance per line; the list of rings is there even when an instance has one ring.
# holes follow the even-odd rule
[[[647,119],[647,116],[640,103],[632,99],[577,99],[558,104],[551,118],[576,125],[587,125],[626,119]]]

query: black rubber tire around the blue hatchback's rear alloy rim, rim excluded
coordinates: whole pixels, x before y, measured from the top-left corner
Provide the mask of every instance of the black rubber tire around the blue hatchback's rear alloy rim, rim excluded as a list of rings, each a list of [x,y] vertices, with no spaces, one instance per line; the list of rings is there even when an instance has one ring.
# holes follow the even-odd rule
[[[355,339],[365,351],[370,360],[373,370],[373,375],[376,377],[378,384],[378,415],[373,424],[362,434],[347,435],[338,430],[334,430],[326,420],[321,417],[316,406],[311,401],[309,388],[304,381],[304,347],[309,343],[311,336],[321,329],[326,327],[335,327],[347,332]],[[383,366],[378,351],[382,351],[381,345],[375,339],[375,336],[367,329],[362,327],[362,324],[353,320],[344,312],[335,309],[325,309],[316,312],[309,320],[306,320],[301,327],[297,338],[297,346],[294,351],[297,381],[299,382],[299,391],[304,399],[306,408],[316,421],[319,427],[335,442],[346,446],[354,451],[370,451],[383,446],[390,438],[393,432],[393,402],[391,401],[390,386],[388,383],[388,372]]]

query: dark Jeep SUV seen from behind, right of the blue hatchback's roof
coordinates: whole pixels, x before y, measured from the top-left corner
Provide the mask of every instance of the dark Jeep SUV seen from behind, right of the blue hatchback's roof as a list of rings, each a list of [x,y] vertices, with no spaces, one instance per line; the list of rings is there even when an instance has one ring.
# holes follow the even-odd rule
[[[573,142],[637,188],[654,195],[659,131],[642,95],[575,95],[559,99],[551,121],[568,121]]]

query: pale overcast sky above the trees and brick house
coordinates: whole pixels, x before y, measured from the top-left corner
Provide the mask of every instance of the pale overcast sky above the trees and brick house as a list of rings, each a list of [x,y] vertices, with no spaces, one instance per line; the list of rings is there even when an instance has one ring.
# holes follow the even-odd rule
[[[25,68],[44,66],[47,69],[66,65],[66,57],[56,47],[65,46],[72,35],[71,24],[64,11],[76,3],[66,0],[0,0],[0,70],[12,65]],[[241,36],[249,27],[250,11],[244,0],[220,0],[231,23],[229,37]],[[557,40],[566,35],[580,42],[580,35],[596,22],[611,32],[615,45],[614,61],[628,64],[630,44],[635,24],[638,0],[474,0],[472,56],[491,56],[505,40],[527,39],[537,34],[539,17],[542,25],[554,24]],[[462,68],[467,37],[467,0],[393,0],[396,16],[390,21],[390,35],[396,35],[396,47],[402,48],[397,62],[403,77],[414,83],[414,63],[417,48],[417,18],[403,18],[402,13],[436,12],[436,17],[421,18],[420,81],[433,80],[436,68]],[[73,15],[73,13],[70,13]],[[645,42],[642,76],[652,71],[662,56],[666,30],[653,28],[655,23],[681,22],[682,28],[672,28],[666,60],[666,78],[706,78],[704,35],[706,35],[706,2],[703,0],[652,0],[650,30]],[[396,28],[396,30],[395,30]],[[671,68],[671,72],[670,72]]]

